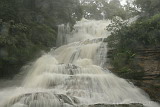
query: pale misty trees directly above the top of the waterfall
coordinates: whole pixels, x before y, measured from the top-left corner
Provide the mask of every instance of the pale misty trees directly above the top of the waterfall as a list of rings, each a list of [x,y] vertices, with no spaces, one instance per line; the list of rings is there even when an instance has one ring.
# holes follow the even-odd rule
[[[106,0],[83,0],[81,5],[86,19],[112,19],[115,16],[127,19],[131,17],[128,12],[129,9],[124,9],[119,0],[110,0],[110,2]]]

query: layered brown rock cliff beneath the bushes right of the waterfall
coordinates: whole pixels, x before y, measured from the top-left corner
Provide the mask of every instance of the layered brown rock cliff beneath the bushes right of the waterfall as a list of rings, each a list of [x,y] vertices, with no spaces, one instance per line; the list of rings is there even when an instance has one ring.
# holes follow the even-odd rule
[[[112,50],[108,52],[108,56],[112,54]],[[160,102],[160,48],[141,48],[137,49],[135,62],[141,70],[122,76],[121,73],[109,68],[112,72],[122,78],[129,79],[136,86],[146,91],[152,100]],[[136,78],[135,78],[136,77]]]

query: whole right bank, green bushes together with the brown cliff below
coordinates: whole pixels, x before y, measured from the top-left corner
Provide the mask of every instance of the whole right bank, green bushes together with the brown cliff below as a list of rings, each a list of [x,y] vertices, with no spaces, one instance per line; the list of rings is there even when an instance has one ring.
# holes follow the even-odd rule
[[[160,1],[135,0],[134,5],[139,11],[134,23],[114,19],[108,26],[112,30],[108,38],[112,71],[132,80],[159,102],[160,94],[155,92],[160,90]],[[153,62],[157,64],[153,66]]]

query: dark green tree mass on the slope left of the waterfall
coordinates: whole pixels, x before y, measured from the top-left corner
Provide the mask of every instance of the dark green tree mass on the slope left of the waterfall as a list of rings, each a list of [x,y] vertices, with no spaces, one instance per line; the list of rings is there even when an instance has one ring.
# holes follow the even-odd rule
[[[0,77],[56,45],[57,25],[82,18],[78,0],[0,0]]]

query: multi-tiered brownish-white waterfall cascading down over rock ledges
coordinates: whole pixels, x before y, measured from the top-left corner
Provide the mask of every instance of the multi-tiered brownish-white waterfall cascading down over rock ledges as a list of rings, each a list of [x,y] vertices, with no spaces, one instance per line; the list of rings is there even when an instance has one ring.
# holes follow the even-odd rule
[[[103,69],[107,55],[105,38],[110,35],[105,29],[109,23],[83,19],[70,33],[69,26],[61,25],[57,45],[67,45],[37,59],[28,68],[29,73],[21,87],[1,91],[2,107],[88,107],[130,103],[159,107],[145,92]]]

